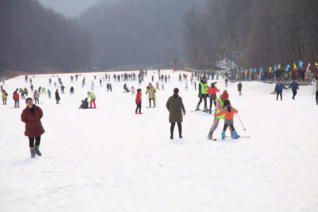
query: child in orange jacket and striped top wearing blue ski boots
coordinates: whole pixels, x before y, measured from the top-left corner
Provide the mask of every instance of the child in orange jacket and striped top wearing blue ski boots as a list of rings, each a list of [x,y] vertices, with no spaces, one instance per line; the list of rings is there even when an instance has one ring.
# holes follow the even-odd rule
[[[233,118],[234,118],[234,113],[238,113],[239,111],[236,110],[231,106],[231,103],[229,100],[224,101],[224,108],[220,113],[216,113],[215,116],[220,116],[225,114],[224,118],[224,127],[222,131],[222,140],[225,139],[225,130],[228,125],[231,126],[231,129],[233,130],[233,138],[239,138],[238,133],[236,132],[234,126],[233,126]]]

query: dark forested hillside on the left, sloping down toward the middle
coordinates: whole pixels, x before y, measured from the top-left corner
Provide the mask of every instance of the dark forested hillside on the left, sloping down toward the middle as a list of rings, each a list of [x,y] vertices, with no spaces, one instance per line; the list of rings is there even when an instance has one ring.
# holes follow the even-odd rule
[[[0,0],[0,72],[89,67],[92,41],[79,25],[35,0]]]

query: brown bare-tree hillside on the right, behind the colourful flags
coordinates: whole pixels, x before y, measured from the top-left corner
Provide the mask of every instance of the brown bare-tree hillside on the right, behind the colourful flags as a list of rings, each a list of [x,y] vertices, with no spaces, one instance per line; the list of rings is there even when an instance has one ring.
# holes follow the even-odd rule
[[[235,55],[242,67],[314,63],[318,60],[318,1],[207,0],[183,17],[187,65],[213,67]]]

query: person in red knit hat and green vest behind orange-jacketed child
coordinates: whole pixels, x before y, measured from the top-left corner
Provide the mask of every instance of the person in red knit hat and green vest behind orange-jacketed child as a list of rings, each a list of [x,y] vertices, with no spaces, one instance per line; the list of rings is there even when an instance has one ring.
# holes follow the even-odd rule
[[[212,127],[211,127],[209,135],[208,135],[208,139],[210,139],[210,140],[213,140],[212,136],[213,136],[214,131],[218,128],[218,124],[220,122],[220,119],[225,118],[225,114],[222,114],[220,116],[215,116],[216,113],[220,113],[223,110],[225,100],[230,101],[229,94],[227,93],[227,90],[224,90],[223,93],[216,100],[217,105],[215,106],[214,120],[213,120],[213,124],[212,124]],[[233,136],[233,130],[231,129],[231,126],[228,125],[228,128],[231,132],[231,136]]]

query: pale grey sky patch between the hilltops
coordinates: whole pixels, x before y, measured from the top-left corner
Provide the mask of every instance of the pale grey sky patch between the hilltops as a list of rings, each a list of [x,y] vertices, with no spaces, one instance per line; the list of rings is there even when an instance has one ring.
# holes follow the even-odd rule
[[[39,0],[39,2],[45,7],[52,7],[53,10],[66,17],[74,17],[93,5],[96,0]]]

